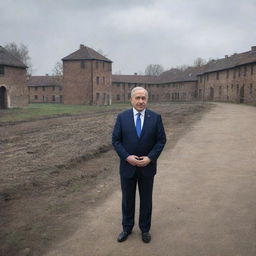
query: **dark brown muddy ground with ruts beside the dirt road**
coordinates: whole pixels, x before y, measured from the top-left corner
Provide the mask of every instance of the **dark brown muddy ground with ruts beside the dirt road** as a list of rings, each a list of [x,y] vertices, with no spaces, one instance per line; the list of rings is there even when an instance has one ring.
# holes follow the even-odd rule
[[[158,104],[171,145],[212,105]],[[42,255],[119,186],[119,111],[0,126],[0,255]]]

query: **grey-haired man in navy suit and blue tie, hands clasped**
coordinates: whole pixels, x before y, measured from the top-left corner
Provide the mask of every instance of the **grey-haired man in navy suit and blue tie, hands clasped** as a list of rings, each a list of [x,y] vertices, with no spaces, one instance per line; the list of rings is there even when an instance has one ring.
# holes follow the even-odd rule
[[[152,192],[157,158],[166,143],[161,116],[146,109],[148,92],[143,87],[131,91],[132,109],[117,116],[112,144],[120,157],[123,231],[117,241],[125,241],[134,226],[135,195],[140,194],[139,227],[142,241],[149,243],[152,215]]]

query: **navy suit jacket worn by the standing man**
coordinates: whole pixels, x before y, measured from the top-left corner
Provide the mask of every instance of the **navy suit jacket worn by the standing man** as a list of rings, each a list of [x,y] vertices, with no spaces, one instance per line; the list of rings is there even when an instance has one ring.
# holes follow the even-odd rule
[[[139,168],[144,176],[154,176],[157,169],[157,158],[165,143],[164,126],[159,114],[146,109],[139,138],[134,124],[133,110],[129,109],[120,113],[113,130],[112,144],[120,157],[121,177],[132,177],[136,168]],[[129,155],[148,156],[151,162],[145,167],[132,166],[126,161]]]

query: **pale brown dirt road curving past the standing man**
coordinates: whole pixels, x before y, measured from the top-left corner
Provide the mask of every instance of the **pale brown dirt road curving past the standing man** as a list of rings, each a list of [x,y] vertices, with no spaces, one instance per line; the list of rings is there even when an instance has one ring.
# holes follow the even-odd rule
[[[174,148],[168,142],[155,179],[150,244],[142,243],[137,226],[116,242],[116,190],[46,255],[256,255],[255,127],[255,107],[217,104]]]

